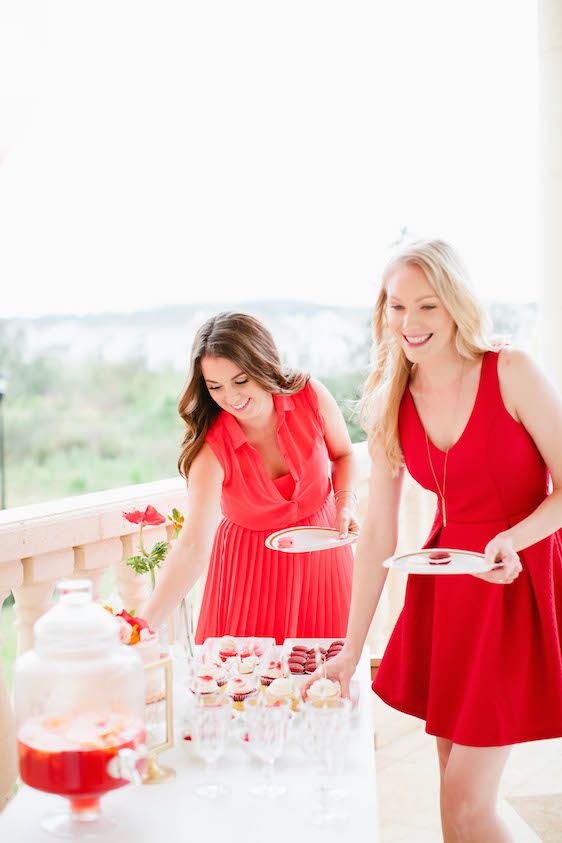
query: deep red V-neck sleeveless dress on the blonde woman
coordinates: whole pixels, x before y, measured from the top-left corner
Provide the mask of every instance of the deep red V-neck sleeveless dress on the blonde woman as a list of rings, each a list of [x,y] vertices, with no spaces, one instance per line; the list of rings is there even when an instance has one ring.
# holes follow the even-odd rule
[[[482,360],[472,415],[449,450],[447,526],[440,505],[425,547],[482,552],[545,499],[549,475],[533,439],[506,410],[498,354]],[[424,429],[406,388],[399,415],[408,471],[437,492]],[[445,454],[432,443],[437,478]],[[426,731],[467,746],[562,736],[562,532],[519,554],[510,585],[468,575],[409,575],[404,608],[373,683]]]

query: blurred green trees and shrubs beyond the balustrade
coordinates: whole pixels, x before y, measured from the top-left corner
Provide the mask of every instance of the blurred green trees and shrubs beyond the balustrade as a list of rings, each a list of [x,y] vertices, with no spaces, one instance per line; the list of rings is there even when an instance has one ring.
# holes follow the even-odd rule
[[[80,364],[31,354],[23,334],[0,322],[8,506],[54,500],[177,474],[183,435],[177,401],[185,373],[147,367],[141,355]],[[314,374],[314,373],[312,373]],[[364,438],[353,411],[364,372],[323,377],[353,441]]]

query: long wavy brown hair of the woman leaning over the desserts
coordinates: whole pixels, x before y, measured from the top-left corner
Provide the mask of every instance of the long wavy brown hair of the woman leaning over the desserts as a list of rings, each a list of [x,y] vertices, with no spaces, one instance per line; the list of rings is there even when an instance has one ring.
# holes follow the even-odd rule
[[[178,403],[187,428],[178,469],[186,479],[221,409],[211,398],[201,371],[201,360],[206,355],[226,357],[236,363],[266,392],[291,395],[299,392],[309,379],[309,375],[283,368],[273,337],[254,316],[225,312],[208,319],[193,340],[187,386]]]

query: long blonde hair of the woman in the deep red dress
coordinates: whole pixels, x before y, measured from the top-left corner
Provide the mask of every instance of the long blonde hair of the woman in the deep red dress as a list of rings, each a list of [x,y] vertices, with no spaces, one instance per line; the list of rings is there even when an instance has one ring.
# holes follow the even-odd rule
[[[412,363],[388,329],[386,285],[400,264],[419,267],[457,326],[455,345],[463,357],[476,359],[494,348],[490,320],[478,303],[454,249],[443,240],[417,240],[399,247],[387,264],[373,313],[373,369],[363,388],[359,416],[369,443],[377,439],[393,474],[404,459],[398,413]]]

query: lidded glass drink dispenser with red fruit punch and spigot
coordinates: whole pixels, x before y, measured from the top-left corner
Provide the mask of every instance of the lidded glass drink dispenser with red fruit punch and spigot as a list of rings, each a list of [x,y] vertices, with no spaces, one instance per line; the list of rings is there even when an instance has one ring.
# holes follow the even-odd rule
[[[104,793],[141,781],[144,672],[89,580],[63,581],[57,595],[34,626],[34,649],[16,662],[19,768],[29,787],[69,800],[43,827],[78,839],[111,824],[100,814]]]

